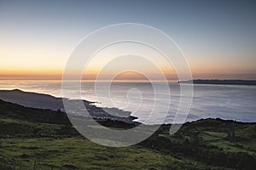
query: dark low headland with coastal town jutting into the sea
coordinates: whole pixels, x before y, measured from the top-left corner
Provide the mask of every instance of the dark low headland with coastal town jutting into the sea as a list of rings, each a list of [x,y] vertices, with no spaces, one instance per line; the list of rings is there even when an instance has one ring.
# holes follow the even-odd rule
[[[64,111],[64,105],[62,98],[56,98],[49,94],[38,94],[32,92],[24,92],[20,89],[14,90],[0,90],[0,99],[8,101],[14,104],[23,105],[26,107],[44,109],[51,111]],[[72,103],[76,105],[76,99],[66,99],[69,104]],[[131,116],[129,111],[121,111],[117,108],[101,108],[96,105],[92,105],[93,102],[83,100],[84,106],[89,112],[90,116],[94,118],[108,118],[115,121],[130,122],[137,117]],[[83,108],[78,108],[74,114],[83,114],[84,116],[89,116],[83,111]]]

